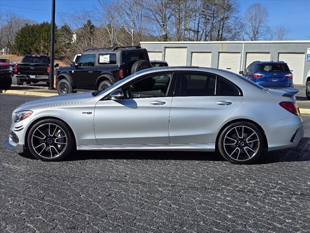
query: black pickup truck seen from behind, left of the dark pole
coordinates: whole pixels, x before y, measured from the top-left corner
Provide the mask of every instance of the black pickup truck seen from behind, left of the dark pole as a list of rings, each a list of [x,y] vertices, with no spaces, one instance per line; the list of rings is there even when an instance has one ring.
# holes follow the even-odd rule
[[[14,67],[17,85],[47,82],[49,83],[50,59],[45,55],[25,55],[21,63]],[[58,67],[59,64],[55,64]]]

